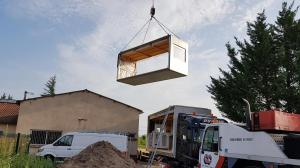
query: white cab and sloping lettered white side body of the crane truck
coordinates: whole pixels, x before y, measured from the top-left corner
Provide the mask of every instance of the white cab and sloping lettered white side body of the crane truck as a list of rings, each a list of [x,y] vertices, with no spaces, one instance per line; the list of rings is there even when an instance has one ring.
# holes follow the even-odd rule
[[[250,132],[228,123],[207,125],[199,152],[201,168],[218,168],[223,164],[230,168],[238,160],[257,161],[265,167],[300,165],[300,159],[288,158],[266,132]]]

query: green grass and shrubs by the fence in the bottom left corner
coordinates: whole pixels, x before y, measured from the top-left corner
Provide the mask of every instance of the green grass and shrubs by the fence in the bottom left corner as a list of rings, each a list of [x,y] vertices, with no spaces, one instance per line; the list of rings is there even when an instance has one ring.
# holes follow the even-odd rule
[[[54,168],[51,160],[35,157],[27,153],[29,140],[20,139],[19,152],[16,154],[16,139],[7,135],[0,137],[0,167],[3,168]]]

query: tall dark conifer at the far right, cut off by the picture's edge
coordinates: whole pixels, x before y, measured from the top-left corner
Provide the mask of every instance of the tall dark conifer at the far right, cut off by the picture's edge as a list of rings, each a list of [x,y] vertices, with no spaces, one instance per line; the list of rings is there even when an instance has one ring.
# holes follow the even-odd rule
[[[286,2],[274,25],[276,52],[280,56],[282,81],[282,104],[289,112],[300,112],[300,21],[296,20],[298,7],[293,9]]]

